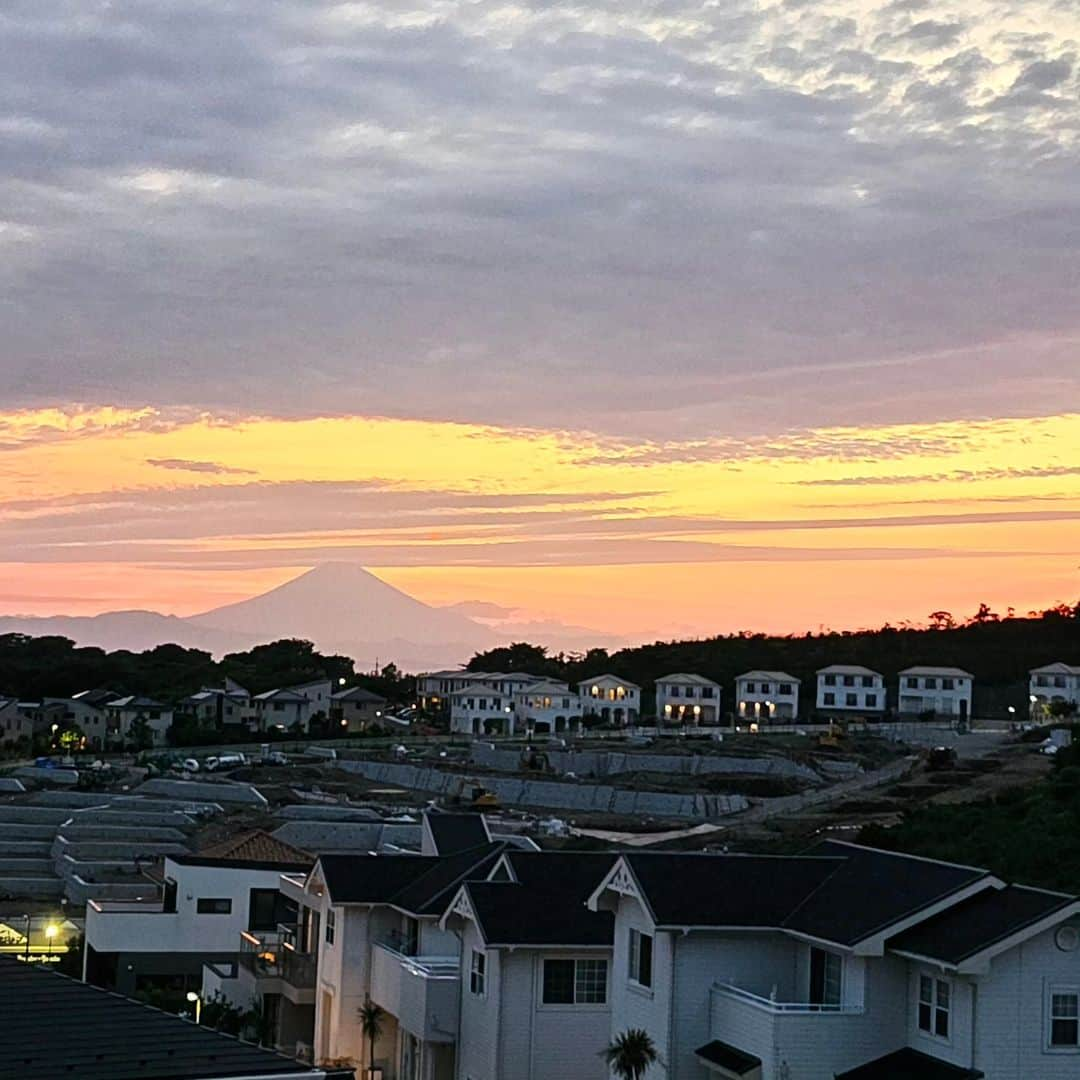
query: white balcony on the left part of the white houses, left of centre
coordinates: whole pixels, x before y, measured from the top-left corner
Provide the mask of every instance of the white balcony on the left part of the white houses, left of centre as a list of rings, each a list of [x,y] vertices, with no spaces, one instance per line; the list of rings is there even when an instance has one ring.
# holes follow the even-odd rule
[[[418,1039],[454,1042],[461,994],[456,956],[406,956],[372,947],[372,1000]]]

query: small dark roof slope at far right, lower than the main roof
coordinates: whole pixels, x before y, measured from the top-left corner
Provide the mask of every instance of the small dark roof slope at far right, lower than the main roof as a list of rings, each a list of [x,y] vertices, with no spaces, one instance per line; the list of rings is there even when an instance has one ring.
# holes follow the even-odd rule
[[[893,937],[889,948],[960,963],[1076,901],[1076,896],[1018,885],[986,889]]]

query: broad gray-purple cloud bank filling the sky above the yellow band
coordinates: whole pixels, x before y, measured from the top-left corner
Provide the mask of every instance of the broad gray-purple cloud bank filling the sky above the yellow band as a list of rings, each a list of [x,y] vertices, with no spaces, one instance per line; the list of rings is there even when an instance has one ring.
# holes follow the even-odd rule
[[[652,435],[1056,408],[1067,29],[837,9],[12,0],[0,407]]]

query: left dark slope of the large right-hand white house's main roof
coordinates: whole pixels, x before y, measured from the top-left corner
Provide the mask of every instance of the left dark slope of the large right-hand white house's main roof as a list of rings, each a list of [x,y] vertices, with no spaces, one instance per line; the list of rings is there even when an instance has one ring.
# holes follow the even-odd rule
[[[624,858],[657,922],[681,927],[780,927],[843,865],[802,855],[635,851]]]

